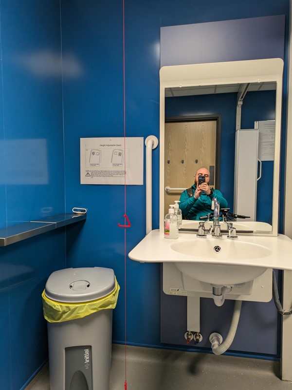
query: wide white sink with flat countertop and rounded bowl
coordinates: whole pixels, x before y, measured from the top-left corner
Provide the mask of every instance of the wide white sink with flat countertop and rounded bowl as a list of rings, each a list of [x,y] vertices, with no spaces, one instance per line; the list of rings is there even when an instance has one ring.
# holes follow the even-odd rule
[[[220,246],[215,252],[214,247]],[[167,240],[163,232],[152,230],[129,253],[129,258],[147,263],[175,263],[183,274],[201,282],[234,285],[255,279],[267,268],[292,270],[292,240],[282,234],[273,236],[223,235],[197,238],[180,233]]]

